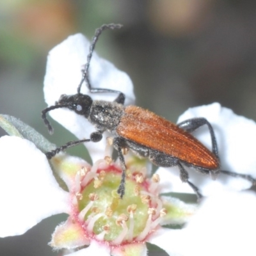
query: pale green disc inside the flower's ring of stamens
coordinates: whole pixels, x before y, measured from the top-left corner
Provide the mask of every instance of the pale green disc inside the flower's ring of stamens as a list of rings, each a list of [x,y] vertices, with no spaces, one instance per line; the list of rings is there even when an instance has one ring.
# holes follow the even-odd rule
[[[104,237],[106,241],[113,241],[120,232],[122,232],[122,227],[120,227],[120,225],[116,225],[116,220],[120,214],[125,214],[129,217],[129,213],[127,212],[127,207],[129,205],[137,205],[136,211],[133,215],[133,237],[138,236],[143,231],[148,218],[148,204],[143,204],[141,202],[140,194],[136,195],[136,193],[134,193],[138,183],[127,178],[125,182],[125,195],[120,199],[116,194],[116,189],[120,184],[120,179],[121,173],[106,173],[102,185],[95,189],[93,182],[90,182],[90,184],[88,184],[82,191],[82,199],[79,200],[79,211],[82,211],[90,202],[90,193],[95,193],[99,196],[99,199],[93,202],[92,208],[84,216],[85,221],[91,214],[93,214],[93,216],[95,215],[95,212],[92,211],[95,207],[97,207],[97,213],[106,212],[106,209],[111,209],[111,216],[104,215],[100,217],[93,226],[93,233],[95,234],[100,234],[105,225],[109,226],[109,233]],[[126,222],[126,225],[129,228],[130,219]]]

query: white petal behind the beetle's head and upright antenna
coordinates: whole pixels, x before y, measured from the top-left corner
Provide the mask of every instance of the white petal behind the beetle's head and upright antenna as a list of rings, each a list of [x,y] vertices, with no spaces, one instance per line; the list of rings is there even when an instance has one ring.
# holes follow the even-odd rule
[[[67,40],[54,47],[49,52],[44,80],[45,102],[52,106],[60,99],[60,95],[74,95],[81,81],[83,65],[86,63],[90,42],[81,34],[69,36]],[[132,82],[129,76],[118,70],[93,52],[90,63],[90,81],[93,88],[108,88],[125,93],[125,104],[134,102]],[[81,93],[90,95],[93,99],[113,101],[115,93],[88,93],[83,84]],[[90,138],[95,128],[84,118],[68,109],[55,109],[51,116],[79,139]],[[66,141],[63,141],[65,143]],[[104,156],[106,136],[99,143],[86,143],[92,154],[93,161]]]

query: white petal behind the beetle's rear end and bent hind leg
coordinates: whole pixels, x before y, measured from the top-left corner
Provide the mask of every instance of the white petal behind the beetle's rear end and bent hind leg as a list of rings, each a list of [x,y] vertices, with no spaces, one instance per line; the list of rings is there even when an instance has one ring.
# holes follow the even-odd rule
[[[221,108],[214,103],[207,106],[190,108],[180,116],[178,124],[194,117],[205,117],[212,124],[221,160],[221,169],[231,172],[244,173],[256,177],[256,124],[253,120],[238,116],[227,108]],[[211,150],[211,137],[206,125],[195,132],[196,138],[202,141]],[[166,191],[193,193],[188,184],[182,184],[179,179],[179,170],[175,168],[159,168],[161,180],[164,180]],[[189,180],[202,189],[203,195],[211,195],[220,189],[234,189],[236,191],[250,188],[251,182],[244,179],[220,174],[216,180],[187,168]],[[169,183],[170,182],[170,183]],[[169,189],[168,189],[169,188]]]

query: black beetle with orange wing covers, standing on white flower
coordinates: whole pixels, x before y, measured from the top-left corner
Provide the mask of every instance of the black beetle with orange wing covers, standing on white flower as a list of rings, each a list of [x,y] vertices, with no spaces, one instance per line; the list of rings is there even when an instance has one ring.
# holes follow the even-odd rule
[[[200,173],[210,175],[212,179],[215,179],[219,173],[224,173],[250,180],[255,184],[256,180],[250,175],[220,170],[216,137],[212,125],[205,118],[191,118],[180,124],[173,124],[161,116],[138,106],[125,107],[125,95],[122,92],[92,87],[88,70],[95,44],[105,29],[121,27],[122,25],[120,24],[104,24],[95,31],[87,56],[87,63],[84,65],[82,79],[77,87],[77,93],[74,95],[61,95],[54,106],[45,108],[42,111],[42,118],[49,132],[52,132],[52,127],[46,118],[46,114],[56,108],[68,108],[77,113],[77,115],[84,116],[95,126],[96,131],[92,132],[88,139],[70,141],[62,147],[47,152],[47,158],[51,159],[61,150],[74,147],[80,143],[98,142],[102,140],[103,132],[109,131],[114,136],[113,147],[117,150],[122,168],[122,178],[117,189],[120,198],[125,193],[126,166],[122,152],[123,148],[129,148],[140,157],[148,157],[157,166],[178,166],[180,179],[182,182],[189,184],[198,199],[202,198],[202,195],[199,189],[189,181],[189,175],[184,166],[195,168]],[[116,93],[117,97],[113,102],[92,100],[89,95],[84,95],[80,92],[84,82],[91,93]],[[209,129],[212,151],[191,135],[191,132],[203,125],[207,125]]]

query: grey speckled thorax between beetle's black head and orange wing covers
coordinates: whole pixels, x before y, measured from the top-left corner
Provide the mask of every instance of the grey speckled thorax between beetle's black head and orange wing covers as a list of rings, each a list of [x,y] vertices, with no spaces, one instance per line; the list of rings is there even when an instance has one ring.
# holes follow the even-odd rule
[[[101,131],[113,131],[124,115],[124,106],[116,102],[94,100],[88,120]]]

